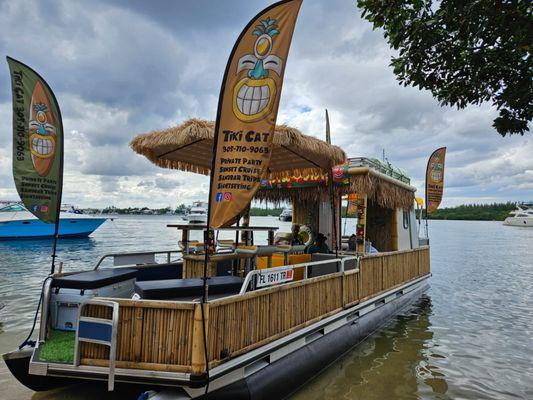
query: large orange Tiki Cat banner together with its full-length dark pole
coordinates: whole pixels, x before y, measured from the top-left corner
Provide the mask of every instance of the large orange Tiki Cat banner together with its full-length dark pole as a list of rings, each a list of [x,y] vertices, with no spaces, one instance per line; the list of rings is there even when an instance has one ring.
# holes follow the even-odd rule
[[[242,205],[250,205],[254,194],[260,187],[261,178],[268,171],[283,74],[300,6],[301,0],[281,0],[258,13],[241,31],[233,45],[224,70],[214,126],[209,205],[207,208],[207,226],[204,233],[202,311],[203,307],[208,307],[208,304],[206,305],[208,301],[207,271],[211,253],[214,253],[216,249],[214,229],[232,226],[237,222],[244,209]],[[278,23],[282,23],[283,27],[280,28]],[[276,37],[276,43],[279,43],[277,48],[272,47],[274,37]],[[261,49],[259,53],[258,46]],[[273,53],[270,54],[271,52]],[[265,64],[263,64],[263,59],[265,59]],[[252,63],[250,64],[249,61]],[[268,66],[267,62],[272,65]],[[271,73],[270,76],[269,73]],[[241,88],[245,88],[246,91],[246,87],[251,87],[248,85],[253,84],[254,87],[259,87],[257,85],[258,82],[260,83],[259,78],[269,78],[270,95],[268,103],[262,105],[261,110],[255,110],[253,114],[250,114],[248,112],[250,108],[248,107],[248,111],[244,111],[244,105],[238,101],[237,95]],[[255,81],[255,83],[250,83],[250,81]],[[222,138],[220,138],[221,136]],[[219,139],[228,145],[220,146],[219,149]],[[261,144],[252,145],[252,141],[261,142]],[[234,175],[237,177],[235,179],[233,176],[223,175],[224,170],[217,167],[221,163],[218,152],[225,154],[231,161],[230,164],[235,166],[245,165],[246,162],[243,160],[247,158],[255,161],[254,165],[257,165],[257,168],[251,169],[249,172],[240,172],[241,175],[249,179],[250,184],[240,183],[244,179],[240,179],[238,175]],[[244,158],[243,155],[247,158]],[[225,180],[234,182],[233,184],[230,184],[231,182],[222,184],[220,183],[221,177],[230,177],[231,179]],[[215,193],[216,197],[214,197]],[[207,395],[210,381],[209,356],[206,321],[203,313],[202,325],[206,377],[205,395]]]

